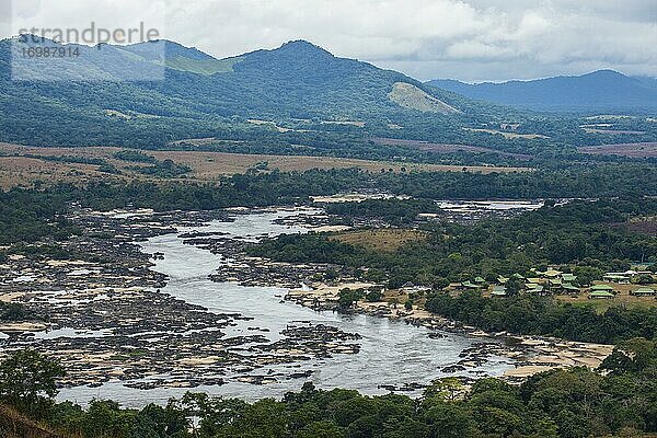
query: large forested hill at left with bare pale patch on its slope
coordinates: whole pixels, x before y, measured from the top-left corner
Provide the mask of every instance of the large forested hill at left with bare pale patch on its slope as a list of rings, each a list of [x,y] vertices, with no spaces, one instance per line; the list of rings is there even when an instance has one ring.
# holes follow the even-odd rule
[[[25,58],[31,48],[76,55]],[[4,39],[0,90],[0,140],[23,143],[67,143],[83,136],[87,145],[124,143],[125,136],[136,139],[147,130],[174,140],[230,131],[240,123],[253,128],[246,119],[376,119],[384,126],[477,108],[453,93],[302,41],[215,59],[166,41],[88,47]]]

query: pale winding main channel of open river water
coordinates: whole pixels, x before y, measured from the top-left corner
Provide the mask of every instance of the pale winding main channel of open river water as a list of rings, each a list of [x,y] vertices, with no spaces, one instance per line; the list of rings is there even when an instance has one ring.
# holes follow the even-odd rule
[[[160,252],[163,260],[155,262],[154,269],[169,276],[163,292],[200,304],[218,313],[241,313],[253,321],[239,322],[226,331],[228,336],[249,335],[249,326],[268,328],[261,333],[273,342],[280,339],[280,332],[295,322],[311,322],[335,326],[344,332],[358,333],[361,339],[360,351],[355,355],[336,354],[327,359],[312,359],[298,364],[264,368],[253,374],[266,374],[285,368],[287,371],[312,370],[307,380],[318,388],[347,388],[366,394],[384,394],[381,385],[402,387],[411,383],[428,383],[445,374],[440,370],[456,365],[462,358],[459,355],[474,343],[481,342],[465,335],[445,333],[445,337],[429,337],[431,333],[404,322],[367,315],[342,315],[333,312],[315,312],[301,306],[286,302],[281,297],[286,289],[274,287],[242,287],[232,283],[212,283],[208,276],[222,263],[220,254],[184,244],[182,233],[189,231],[222,232],[234,238],[255,240],[262,235],[306,232],[300,227],[275,223],[276,219],[298,215],[292,211],[257,212],[237,215],[234,222],[214,221],[206,227],[181,228],[177,233],[152,238],[141,244],[147,253]],[[488,357],[477,368],[469,368],[456,374],[499,376],[512,368],[512,361],[506,358]],[[198,387],[193,391],[203,391],[222,396],[238,396],[256,400],[266,396],[280,396],[288,391],[299,390],[304,380],[283,380],[270,384],[239,382],[227,376],[228,384],[220,387]],[[162,388],[154,390],[135,390],[125,388],[120,382],[105,383],[100,388],[65,389],[59,400],[71,400],[85,404],[92,399],[113,399],[126,406],[139,407],[147,403],[165,403],[171,396],[181,396],[186,389]]]

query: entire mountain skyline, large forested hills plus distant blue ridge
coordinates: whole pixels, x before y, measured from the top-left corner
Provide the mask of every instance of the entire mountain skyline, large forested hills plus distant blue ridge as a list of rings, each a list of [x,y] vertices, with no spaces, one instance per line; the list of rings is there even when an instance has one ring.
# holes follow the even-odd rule
[[[37,49],[64,56],[31,56]],[[552,89],[545,91],[543,83]],[[227,149],[239,145],[244,151],[287,148],[310,153],[323,148],[324,153],[349,155],[355,143],[379,153],[382,146],[373,138],[506,148],[512,153],[542,150],[548,142],[589,146],[589,138],[601,141],[602,136],[614,141],[654,138],[644,135],[653,128],[647,120],[616,124],[610,127],[614,131],[593,127],[591,134],[579,127],[577,117],[537,119],[469,94],[487,85],[438,84],[442,88],[335,57],[304,41],[217,59],[170,41],[89,47],[11,38],[0,41],[0,141],[159,148],[210,138],[214,143],[226,140],[221,147]],[[506,84],[526,85],[535,89],[533,94],[516,91],[516,101],[500,103],[590,111],[601,102],[598,107],[638,111],[657,102],[657,87],[649,80],[608,71]],[[565,102],[557,103],[560,95]],[[550,99],[551,105],[545,103]],[[400,149],[390,152],[393,157],[408,149],[395,147]]]

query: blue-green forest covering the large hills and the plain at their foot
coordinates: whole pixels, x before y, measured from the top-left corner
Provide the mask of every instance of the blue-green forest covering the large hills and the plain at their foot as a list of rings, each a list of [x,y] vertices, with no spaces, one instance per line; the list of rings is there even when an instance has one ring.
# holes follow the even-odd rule
[[[657,139],[657,127],[645,117],[613,122],[616,130],[625,130],[632,123],[634,134],[586,132],[580,125],[590,120],[580,116],[533,114],[474,102],[395,71],[333,57],[303,42],[224,61],[207,57],[203,61],[224,67],[216,74],[176,68],[174,64],[197,65],[198,51],[163,44],[166,47],[160,53],[154,47],[154,53],[148,54],[148,48],[137,45],[130,48],[135,54],[112,50],[112,56],[97,48],[81,48],[83,56],[77,62],[22,66],[25,74],[41,80],[12,81],[12,42],[0,42],[0,139],[35,146],[160,149],[194,145],[180,142],[185,139],[215,138],[207,148],[459,164],[518,162],[500,151],[530,155],[537,163],[598,160],[578,155],[576,147]],[[176,47],[175,55],[171,55],[171,47]],[[168,59],[173,68],[157,81],[135,80],[145,72],[148,77],[152,69],[162,73],[151,60],[163,53],[175,56]],[[53,76],[70,80],[42,81]],[[106,78],[128,80],[100,80]],[[419,93],[460,112],[402,107],[389,97],[396,82],[412,84]],[[269,123],[255,125],[249,122],[253,119]],[[349,120],[358,124],[345,124]],[[515,128],[503,128],[507,125]],[[500,130],[506,137],[495,134]],[[537,134],[541,137],[522,137]],[[378,137],[468,145],[489,151],[435,153],[417,146],[382,146],[372,141]]]

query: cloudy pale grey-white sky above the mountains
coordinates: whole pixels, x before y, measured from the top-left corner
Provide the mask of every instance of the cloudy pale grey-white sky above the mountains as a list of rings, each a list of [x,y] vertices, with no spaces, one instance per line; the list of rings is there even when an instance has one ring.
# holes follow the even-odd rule
[[[13,3],[13,4],[12,4]],[[657,77],[657,0],[0,0],[0,34],[145,22],[216,57],[308,39],[417,79]]]

